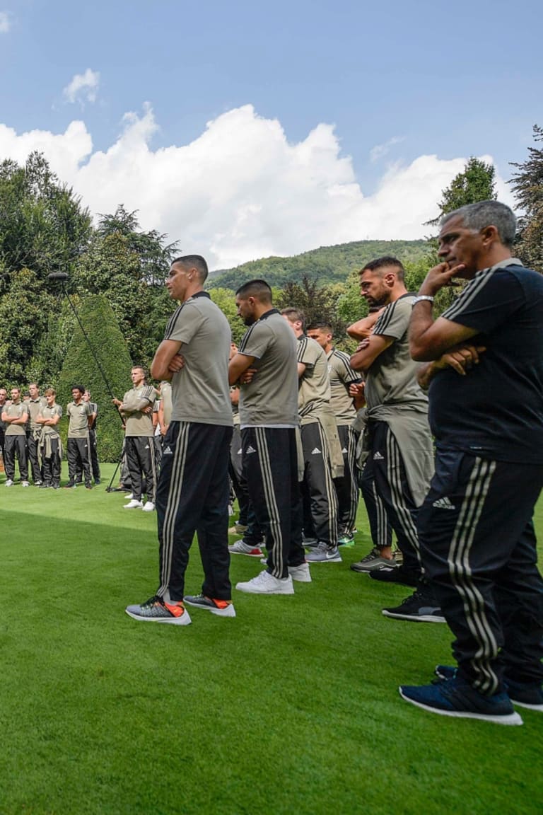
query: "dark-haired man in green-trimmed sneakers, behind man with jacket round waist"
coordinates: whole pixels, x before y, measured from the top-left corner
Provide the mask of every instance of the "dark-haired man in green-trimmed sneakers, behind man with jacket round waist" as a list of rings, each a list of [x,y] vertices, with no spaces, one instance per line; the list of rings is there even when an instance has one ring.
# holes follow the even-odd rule
[[[330,406],[338,425],[339,443],[344,457],[344,474],[334,480],[338,496],[338,543],[339,546],[353,545],[353,529],[358,508],[357,434],[353,430],[357,411],[353,397],[349,395],[349,388],[351,385],[361,383],[361,378],[351,368],[350,357],[334,347],[331,325],[323,322],[313,323],[309,326],[307,334],[318,342],[328,360]]]

